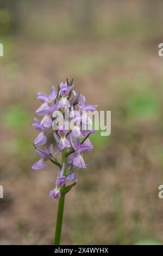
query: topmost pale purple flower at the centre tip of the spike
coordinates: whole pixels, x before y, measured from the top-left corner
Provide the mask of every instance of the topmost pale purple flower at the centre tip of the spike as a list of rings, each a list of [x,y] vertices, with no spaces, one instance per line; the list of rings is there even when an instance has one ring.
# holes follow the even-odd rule
[[[59,96],[61,96],[61,99],[58,101],[57,106],[58,108],[70,108],[70,102],[68,102],[68,94],[71,92],[73,88],[72,86],[67,86],[67,82],[64,84],[61,82],[60,84],[60,91]]]

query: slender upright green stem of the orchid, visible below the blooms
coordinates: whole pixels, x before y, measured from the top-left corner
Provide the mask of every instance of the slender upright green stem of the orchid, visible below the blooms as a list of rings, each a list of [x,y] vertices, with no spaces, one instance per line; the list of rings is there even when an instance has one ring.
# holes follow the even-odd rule
[[[62,164],[63,163],[65,163],[64,175],[66,176],[66,150],[62,151]],[[59,204],[58,204],[54,245],[60,244],[61,229],[62,229],[62,222],[63,222],[63,216],[64,216],[64,203],[65,203],[65,194],[61,193],[61,197],[59,199]]]

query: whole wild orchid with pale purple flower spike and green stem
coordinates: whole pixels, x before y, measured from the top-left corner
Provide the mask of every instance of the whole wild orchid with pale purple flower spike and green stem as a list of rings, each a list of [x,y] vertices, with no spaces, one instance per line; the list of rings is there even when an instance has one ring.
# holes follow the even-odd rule
[[[34,170],[45,168],[47,160],[51,160],[59,167],[55,188],[49,193],[50,198],[59,200],[55,245],[60,243],[65,194],[76,185],[75,172],[80,168],[86,168],[83,153],[93,149],[88,137],[95,132],[92,128],[89,129],[91,120],[87,111],[95,111],[97,105],[86,105],[85,97],[80,92],[73,91],[72,88],[73,80],[69,83],[67,79],[65,84],[61,82],[57,91],[55,86],[52,86],[49,95],[39,92],[37,99],[42,102],[42,105],[36,110],[36,114],[43,118],[41,121],[34,118],[35,123],[33,123],[33,126],[40,132],[34,141],[34,147],[41,159],[32,168]],[[73,97],[71,97],[72,92]],[[46,144],[46,134],[50,129],[54,131],[57,152],[53,151],[53,141],[48,148],[39,148]],[[59,152],[62,153],[61,163],[56,156]],[[71,184],[67,185],[68,182]]]

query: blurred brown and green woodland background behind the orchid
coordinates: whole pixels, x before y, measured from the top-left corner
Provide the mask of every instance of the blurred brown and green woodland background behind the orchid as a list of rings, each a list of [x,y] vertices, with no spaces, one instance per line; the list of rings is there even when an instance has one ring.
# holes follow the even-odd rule
[[[111,110],[66,196],[61,243],[163,243],[161,0],[0,0],[0,244],[53,243],[57,167],[34,171],[38,91],[74,78],[87,104]]]

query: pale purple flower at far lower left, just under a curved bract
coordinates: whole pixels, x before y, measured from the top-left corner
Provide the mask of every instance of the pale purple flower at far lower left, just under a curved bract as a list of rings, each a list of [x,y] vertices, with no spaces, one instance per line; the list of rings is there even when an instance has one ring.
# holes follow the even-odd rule
[[[51,144],[48,148],[45,147],[45,150],[36,150],[36,152],[39,154],[41,159],[32,166],[32,169],[40,170],[45,168],[45,161],[50,158],[51,154],[53,154],[53,145]]]

